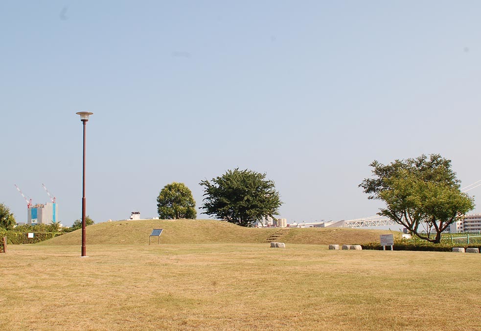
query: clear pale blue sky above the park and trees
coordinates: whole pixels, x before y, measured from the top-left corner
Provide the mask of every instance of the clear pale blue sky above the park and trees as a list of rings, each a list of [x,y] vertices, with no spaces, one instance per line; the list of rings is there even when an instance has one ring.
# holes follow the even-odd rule
[[[172,181],[200,207],[199,182],[236,167],[275,181],[289,223],[375,215],[374,159],[439,153],[469,185],[480,17],[477,0],[1,1],[0,202],[26,221],[14,184],[45,203],[44,183],[64,225],[81,217],[77,111],[96,222],[157,216]]]

